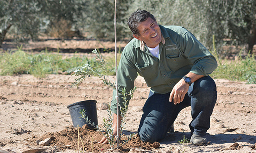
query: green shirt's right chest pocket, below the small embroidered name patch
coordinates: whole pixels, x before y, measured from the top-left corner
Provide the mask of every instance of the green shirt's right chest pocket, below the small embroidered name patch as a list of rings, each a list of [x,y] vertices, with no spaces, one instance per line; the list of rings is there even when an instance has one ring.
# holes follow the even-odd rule
[[[167,64],[172,72],[175,72],[178,69],[182,68],[183,66],[186,66],[189,64],[186,58],[180,53],[169,54],[169,55],[166,55],[165,57],[167,60]]]

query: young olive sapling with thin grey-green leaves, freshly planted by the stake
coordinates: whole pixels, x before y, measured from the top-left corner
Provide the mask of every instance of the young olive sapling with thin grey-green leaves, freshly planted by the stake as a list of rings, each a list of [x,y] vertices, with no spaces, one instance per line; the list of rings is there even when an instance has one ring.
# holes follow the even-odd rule
[[[94,68],[90,64],[85,64],[82,68],[78,68],[77,70],[74,71],[75,76],[80,76],[78,79],[75,79],[74,83],[72,83],[73,87],[78,88],[80,83],[84,81],[86,78],[91,77],[92,75],[98,76],[105,85],[108,87],[111,87],[112,89],[116,90],[116,83],[113,79],[111,79],[108,75],[108,69],[106,68],[105,61],[97,51],[97,49],[93,50],[92,53],[95,53],[96,59],[95,62],[97,62],[101,67],[100,68]],[[80,114],[82,119],[85,119],[87,123],[89,123],[91,126],[95,127],[96,130],[101,132],[106,139],[108,140],[111,149],[115,149],[119,146],[122,146],[125,144],[128,140],[132,138],[134,134],[130,134],[130,136],[127,136],[126,140],[121,141],[119,144],[117,144],[117,139],[121,140],[122,133],[124,130],[124,125],[125,125],[125,119],[126,119],[126,113],[128,110],[128,100],[132,98],[134,91],[136,90],[136,87],[132,90],[130,90],[128,93],[126,91],[126,88],[118,88],[118,90],[121,91],[121,98],[123,99],[122,105],[123,107],[120,107],[119,105],[119,110],[120,110],[120,115],[121,115],[121,126],[120,126],[120,132],[119,136],[114,136],[113,132],[113,112],[110,109],[111,102],[108,104],[108,117],[107,119],[103,118],[103,129],[100,128],[98,125],[95,125],[95,123],[91,123],[91,120],[86,116],[86,111],[80,110]]]

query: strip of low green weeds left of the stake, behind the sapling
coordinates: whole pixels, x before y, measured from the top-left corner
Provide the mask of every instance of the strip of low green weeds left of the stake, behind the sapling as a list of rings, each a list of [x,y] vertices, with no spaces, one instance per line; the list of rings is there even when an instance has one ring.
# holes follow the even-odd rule
[[[108,74],[115,74],[114,57],[108,57],[106,66]],[[100,68],[98,62],[95,62],[95,57],[78,56],[76,53],[69,58],[64,58],[59,50],[57,53],[52,53],[47,50],[40,53],[30,53],[17,47],[17,50],[7,51],[0,55],[0,75],[17,75],[17,74],[32,74],[38,78],[47,77],[48,74],[71,74],[74,70],[80,68],[80,65],[90,64],[95,68]]]

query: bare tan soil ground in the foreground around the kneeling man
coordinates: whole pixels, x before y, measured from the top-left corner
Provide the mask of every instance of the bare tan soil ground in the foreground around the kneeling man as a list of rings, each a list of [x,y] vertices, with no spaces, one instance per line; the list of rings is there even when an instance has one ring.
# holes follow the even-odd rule
[[[67,43],[68,44],[68,43]],[[92,47],[93,48],[93,47]],[[10,153],[38,148],[48,148],[46,153],[73,153],[78,147],[78,130],[72,126],[67,106],[82,100],[97,100],[99,125],[107,117],[104,109],[112,99],[112,89],[103,85],[97,77],[85,80],[75,89],[71,87],[75,76],[51,74],[44,79],[31,75],[0,76],[0,150]],[[115,79],[115,77],[112,77]],[[154,145],[135,137],[121,149],[111,150],[109,144],[97,144],[102,134],[80,127],[86,153],[256,153],[256,85],[244,82],[215,79],[218,98],[208,130],[209,142],[201,147],[190,143],[178,143],[189,137],[190,107],[180,112],[174,123],[175,132]],[[138,77],[138,87],[131,100],[124,134],[136,133],[142,115],[142,107],[149,88]],[[124,136],[125,138],[126,136]],[[50,138],[46,146],[37,143]],[[154,148],[154,147],[156,148]],[[1,151],[0,151],[1,153]]]

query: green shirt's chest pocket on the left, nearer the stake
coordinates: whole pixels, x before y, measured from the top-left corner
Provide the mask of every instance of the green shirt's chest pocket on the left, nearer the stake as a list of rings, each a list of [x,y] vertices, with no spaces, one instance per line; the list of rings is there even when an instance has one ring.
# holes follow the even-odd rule
[[[145,79],[156,78],[156,73],[149,62],[139,63],[136,65],[136,68],[141,77]]]

